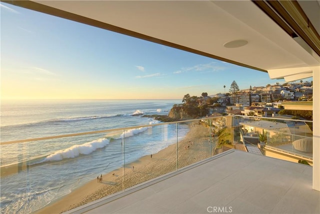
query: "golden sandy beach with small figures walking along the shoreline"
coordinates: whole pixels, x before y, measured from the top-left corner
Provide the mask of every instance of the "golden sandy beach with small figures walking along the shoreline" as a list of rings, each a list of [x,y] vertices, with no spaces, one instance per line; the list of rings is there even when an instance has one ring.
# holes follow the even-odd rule
[[[189,132],[178,142],[178,148],[176,148],[176,144],[172,144],[158,153],[152,154],[152,157],[150,155],[143,156],[126,164],[124,169],[121,167],[103,174],[101,182],[97,182],[94,177],[71,193],[37,210],[36,213],[61,213],[121,191],[123,188],[175,171],[176,166],[181,168],[210,157],[209,128],[198,124],[189,125],[189,127]],[[214,143],[211,144],[211,151],[213,148]],[[176,151],[178,151],[178,155]],[[177,156],[178,163],[176,164]],[[132,166],[134,166],[133,170]]]

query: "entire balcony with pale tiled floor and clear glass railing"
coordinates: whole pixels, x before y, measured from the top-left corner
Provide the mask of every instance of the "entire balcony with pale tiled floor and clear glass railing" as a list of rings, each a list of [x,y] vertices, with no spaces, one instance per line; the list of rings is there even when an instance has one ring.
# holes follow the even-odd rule
[[[240,138],[242,123],[261,125],[267,120],[210,117],[1,142],[1,151],[12,151],[1,154],[1,212],[203,213],[231,207],[236,213],[318,213],[312,153],[298,152],[311,134],[306,123],[312,121],[278,119],[276,123],[288,128],[264,127],[266,145],[255,149],[277,154],[279,160],[251,154],[245,148],[252,145]],[[217,123],[218,130],[213,125]],[[65,148],[48,153],[48,145],[61,140]],[[285,161],[288,156],[291,162]],[[9,158],[17,161],[3,164]],[[101,181],[96,176],[100,174]],[[72,201],[79,196],[82,199]],[[14,197],[25,201],[18,209]],[[66,207],[61,205],[65,201],[70,201]]]

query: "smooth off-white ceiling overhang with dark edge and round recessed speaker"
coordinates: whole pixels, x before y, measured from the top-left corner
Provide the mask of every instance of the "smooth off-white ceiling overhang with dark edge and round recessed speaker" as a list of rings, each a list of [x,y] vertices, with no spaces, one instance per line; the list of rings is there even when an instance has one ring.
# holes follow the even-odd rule
[[[4,1],[261,71],[306,77],[319,56],[251,1]],[[105,24],[105,25],[104,25]],[[238,48],[225,43],[245,40]],[[297,69],[300,68],[300,69]],[[280,70],[279,70],[280,69]],[[282,69],[282,70],[281,70]],[[306,69],[307,70],[307,69]],[[295,73],[295,71],[297,73]],[[301,75],[298,75],[301,71]],[[308,75],[307,75],[308,74]],[[279,78],[275,77],[275,78]]]

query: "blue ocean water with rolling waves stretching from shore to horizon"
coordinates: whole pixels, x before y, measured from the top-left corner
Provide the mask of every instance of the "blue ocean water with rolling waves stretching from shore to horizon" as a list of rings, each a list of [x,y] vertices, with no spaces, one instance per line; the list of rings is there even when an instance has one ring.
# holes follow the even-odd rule
[[[1,142],[160,123],[180,100],[1,101]],[[1,213],[29,213],[72,189],[183,138],[186,125],[125,129],[0,146]],[[122,136],[124,135],[124,136]],[[22,166],[26,166],[26,168]]]

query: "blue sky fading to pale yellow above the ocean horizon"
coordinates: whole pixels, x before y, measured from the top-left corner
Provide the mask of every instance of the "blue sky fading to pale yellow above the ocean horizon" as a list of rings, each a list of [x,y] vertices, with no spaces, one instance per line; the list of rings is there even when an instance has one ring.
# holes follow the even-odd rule
[[[174,48],[1,4],[1,99],[181,99],[284,83]],[[310,81],[310,80],[308,80]]]

